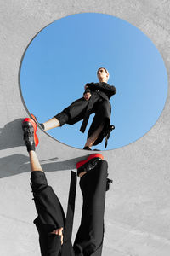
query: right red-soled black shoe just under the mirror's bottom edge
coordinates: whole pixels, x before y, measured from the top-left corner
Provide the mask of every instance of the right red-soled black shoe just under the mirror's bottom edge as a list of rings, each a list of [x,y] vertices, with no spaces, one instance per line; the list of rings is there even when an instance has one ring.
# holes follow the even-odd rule
[[[81,172],[89,172],[94,169],[95,166],[98,165],[100,160],[103,160],[104,157],[102,154],[90,154],[87,160],[82,160],[77,163],[77,176]]]

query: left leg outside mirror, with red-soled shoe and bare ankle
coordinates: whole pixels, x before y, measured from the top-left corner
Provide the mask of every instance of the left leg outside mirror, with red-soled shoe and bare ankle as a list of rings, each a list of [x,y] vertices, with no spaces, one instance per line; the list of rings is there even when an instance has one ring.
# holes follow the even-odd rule
[[[62,230],[65,224],[65,213],[54,190],[48,186],[47,178],[37,158],[34,142],[35,126],[33,127],[31,124],[31,119],[24,119],[22,128],[24,131],[24,141],[30,156],[31,189],[38,214],[34,224],[36,224],[39,233],[39,242],[43,256],[47,255],[48,250],[51,249],[55,250],[55,252],[60,251],[63,240]],[[54,240],[55,243],[53,242]]]

